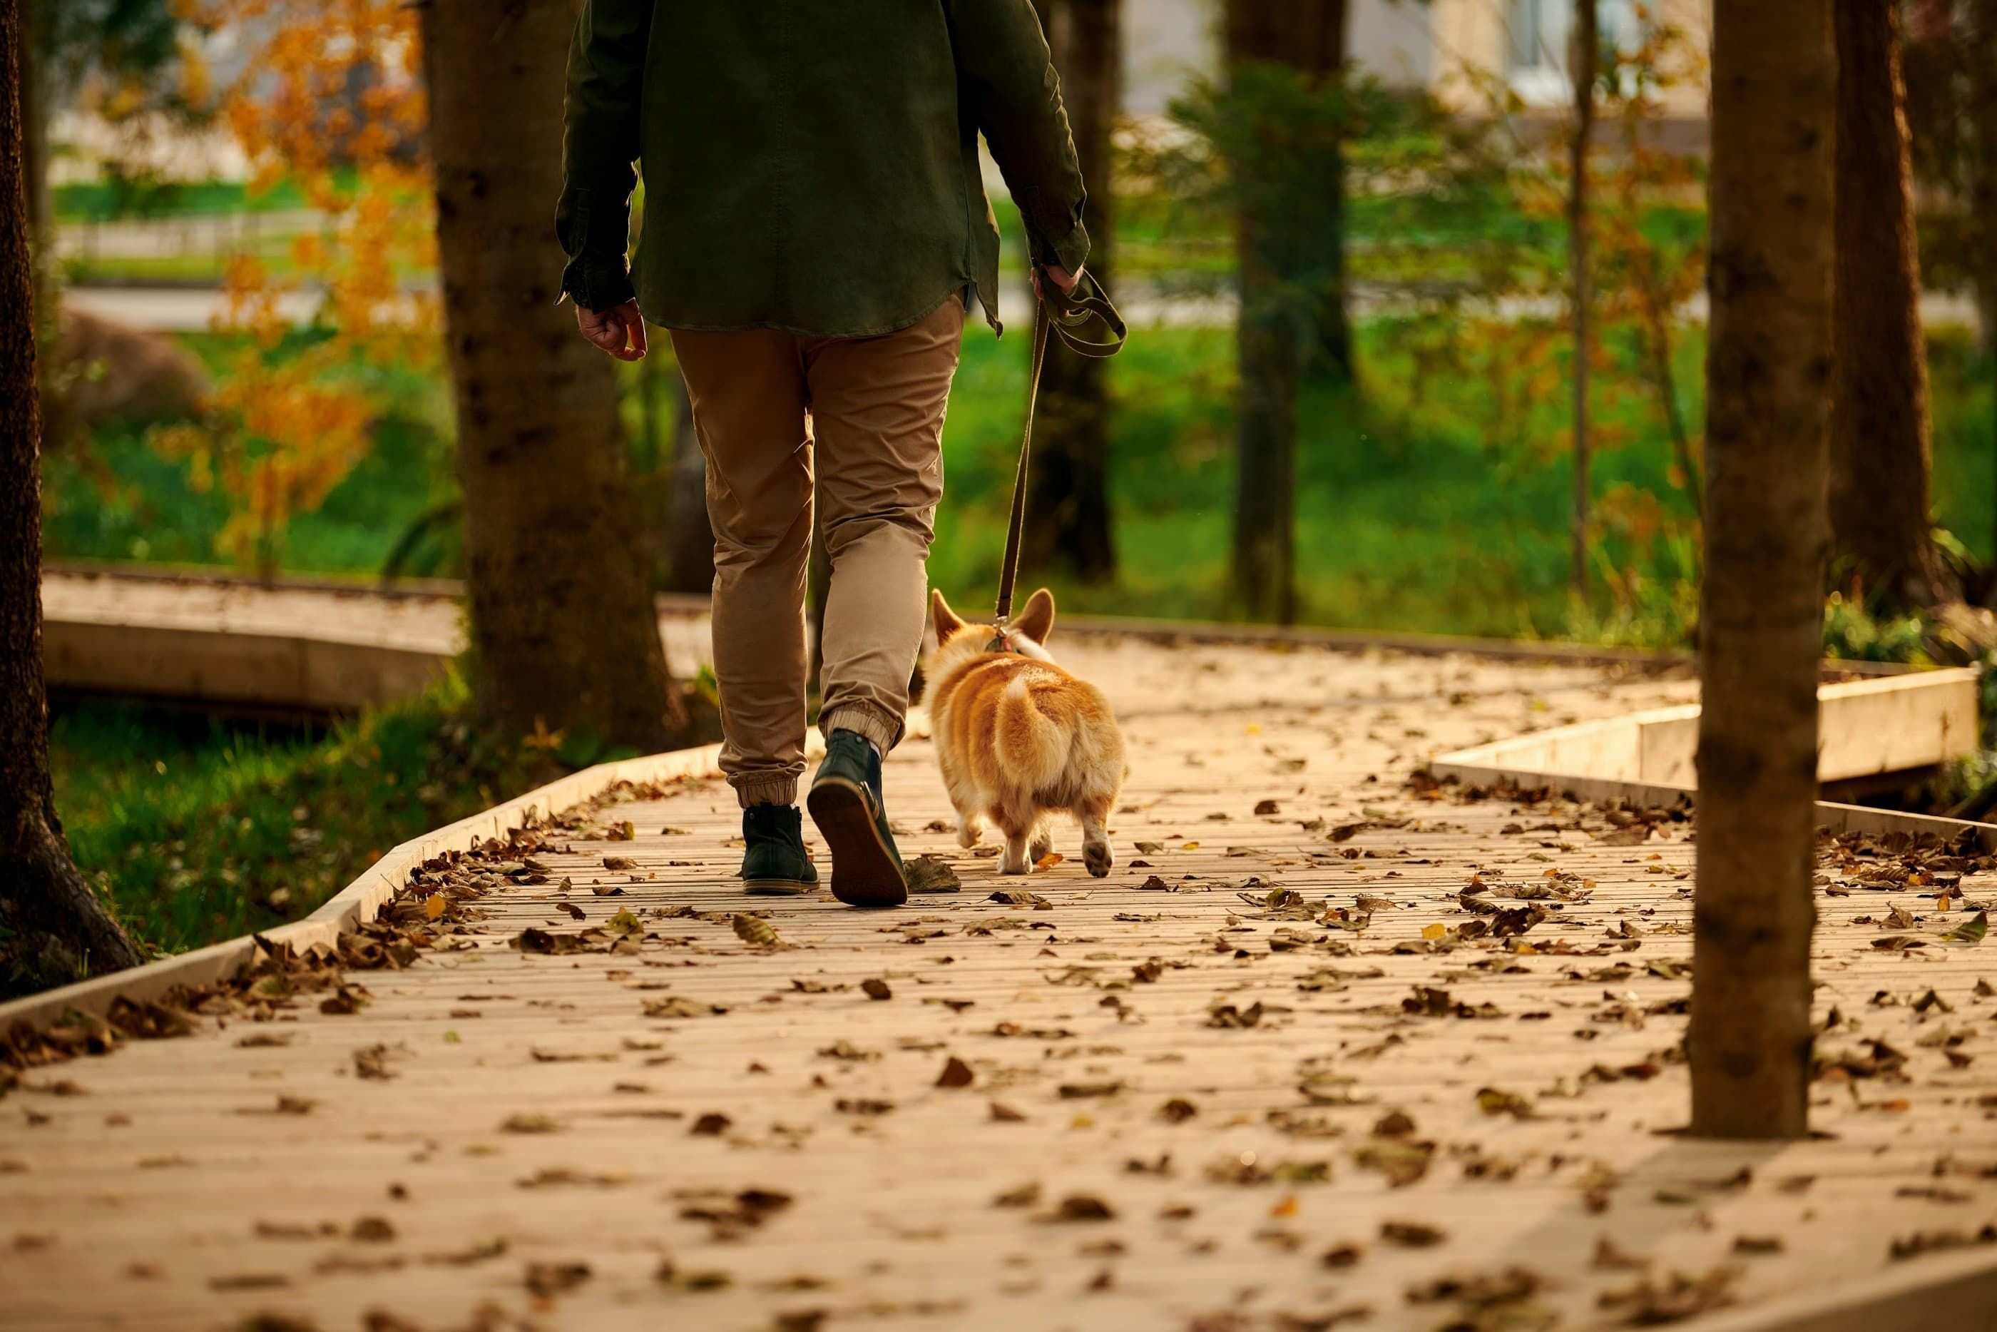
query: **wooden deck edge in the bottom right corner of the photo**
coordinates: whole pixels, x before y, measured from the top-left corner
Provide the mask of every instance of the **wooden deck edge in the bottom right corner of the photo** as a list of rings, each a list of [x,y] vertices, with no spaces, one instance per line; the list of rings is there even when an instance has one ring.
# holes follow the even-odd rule
[[[1975,1248],[1897,1264],[1879,1276],[1823,1286],[1693,1318],[1685,1332],[1965,1332],[1989,1326],[1997,1252]]]

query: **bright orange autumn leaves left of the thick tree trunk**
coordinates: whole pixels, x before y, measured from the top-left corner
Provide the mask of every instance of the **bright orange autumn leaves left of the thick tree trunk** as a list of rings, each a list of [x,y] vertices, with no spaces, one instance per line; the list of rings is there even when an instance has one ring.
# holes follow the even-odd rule
[[[322,220],[292,244],[290,272],[254,256],[226,272],[218,332],[242,347],[210,411],[156,431],[198,487],[230,499],[222,553],[278,571],[294,513],[320,505],[373,445],[375,405],[357,369],[437,363],[427,116],[417,14],[403,0],[178,0],[202,30],[254,44],[214,110],[252,164],[252,194],[296,186]],[[296,298],[316,337],[290,339]]]

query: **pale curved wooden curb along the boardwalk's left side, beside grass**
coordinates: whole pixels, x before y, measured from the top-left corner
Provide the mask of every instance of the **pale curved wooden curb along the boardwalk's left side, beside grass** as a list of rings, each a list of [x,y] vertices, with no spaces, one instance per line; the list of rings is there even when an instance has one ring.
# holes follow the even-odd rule
[[[371,921],[381,911],[381,905],[395,897],[409,869],[433,855],[465,849],[485,837],[503,837],[509,827],[519,827],[529,815],[551,815],[569,809],[621,781],[645,783],[669,781],[673,777],[705,777],[717,771],[719,759],[719,745],[701,745],[699,749],[675,749],[643,759],[599,763],[579,773],[569,773],[503,805],[483,809],[467,819],[401,843],[361,871],[353,883],[322,903],[310,917],[264,931],[264,939],[288,943],[300,951],[314,945],[332,945],[343,931]],[[126,999],[158,999],[176,985],[208,985],[234,975],[252,959],[254,951],[254,937],[242,935],[130,971],[114,971],[104,977],[66,985],[58,991],[28,995],[26,999],[0,1004],[0,1030],[10,1028],[14,1022],[44,1026],[70,1008],[102,1014],[120,995]]]

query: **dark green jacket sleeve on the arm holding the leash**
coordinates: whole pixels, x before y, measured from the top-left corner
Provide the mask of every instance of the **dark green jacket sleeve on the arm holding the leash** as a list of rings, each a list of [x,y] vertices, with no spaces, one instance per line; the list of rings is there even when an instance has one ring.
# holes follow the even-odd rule
[[[1070,274],[1088,258],[1082,168],[1030,0],[947,0],[957,80],[1026,224],[1038,264]]]

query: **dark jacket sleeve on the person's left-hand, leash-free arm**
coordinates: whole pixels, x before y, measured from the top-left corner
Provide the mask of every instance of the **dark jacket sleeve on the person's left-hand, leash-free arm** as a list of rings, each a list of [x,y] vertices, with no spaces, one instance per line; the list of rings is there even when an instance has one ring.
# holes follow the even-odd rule
[[[583,0],[569,42],[555,238],[569,256],[561,290],[583,310],[635,298],[625,254],[651,6],[653,0]]]

